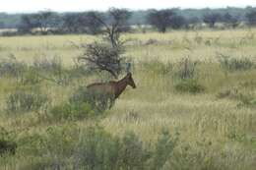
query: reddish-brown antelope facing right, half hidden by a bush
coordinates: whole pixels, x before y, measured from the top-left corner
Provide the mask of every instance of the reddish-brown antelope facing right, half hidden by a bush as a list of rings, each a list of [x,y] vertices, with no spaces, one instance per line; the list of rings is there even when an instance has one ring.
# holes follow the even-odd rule
[[[131,73],[128,73],[120,81],[109,83],[96,83],[88,85],[87,88],[90,91],[94,91],[96,93],[101,94],[111,94],[114,96],[114,98],[117,98],[124,91],[127,85],[131,85],[133,88],[136,88]]]

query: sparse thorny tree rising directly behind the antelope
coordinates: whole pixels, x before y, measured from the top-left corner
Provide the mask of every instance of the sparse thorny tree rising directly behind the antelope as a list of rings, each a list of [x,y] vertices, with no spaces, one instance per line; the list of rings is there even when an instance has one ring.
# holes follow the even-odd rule
[[[121,73],[124,61],[124,41],[121,41],[121,32],[127,30],[127,21],[131,13],[125,9],[111,8],[108,10],[108,20],[101,14],[91,15],[94,20],[103,26],[102,41],[84,45],[85,53],[79,61],[86,61],[90,69],[106,71],[115,79]]]

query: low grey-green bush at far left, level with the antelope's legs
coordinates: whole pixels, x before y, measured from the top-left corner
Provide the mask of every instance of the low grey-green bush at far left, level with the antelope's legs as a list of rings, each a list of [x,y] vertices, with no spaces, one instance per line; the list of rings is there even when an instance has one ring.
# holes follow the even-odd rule
[[[47,95],[42,94],[37,89],[33,89],[32,91],[17,89],[15,92],[11,93],[6,100],[7,112],[36,111],[47,101]]]

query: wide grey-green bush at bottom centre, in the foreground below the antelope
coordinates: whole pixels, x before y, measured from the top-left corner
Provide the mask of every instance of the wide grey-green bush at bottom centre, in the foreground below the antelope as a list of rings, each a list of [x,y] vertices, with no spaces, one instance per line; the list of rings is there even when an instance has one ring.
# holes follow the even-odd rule
[[[154,149],[151,149],[133,133],[128,132],[118,138],[93,127],[82,135],[75,164],[85,169],[160,169],[170,157],[177,141],[178,138],[172,139],[165,131],[153,145]]]

